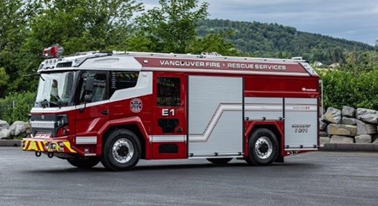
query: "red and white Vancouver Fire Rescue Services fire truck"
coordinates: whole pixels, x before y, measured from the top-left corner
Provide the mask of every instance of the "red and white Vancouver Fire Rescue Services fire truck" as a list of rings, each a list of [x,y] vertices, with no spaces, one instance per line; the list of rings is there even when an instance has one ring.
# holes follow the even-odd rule
[[[130,170],[139,159],[251,165],[318,149],[319,76],[304,60],[45,49],[22,149]]]

